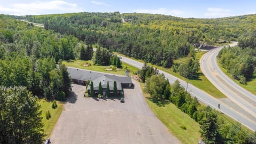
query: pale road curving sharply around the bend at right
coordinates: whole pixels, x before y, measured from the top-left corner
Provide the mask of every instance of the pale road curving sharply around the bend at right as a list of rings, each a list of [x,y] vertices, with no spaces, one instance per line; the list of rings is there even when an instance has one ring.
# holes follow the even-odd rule
[[[230,44],[230,46],[235,45],[237,45],[237,42]],[[224,46],[220,46],[205,53],[200,61],[201,69],[204,75],[217,89],[244,110],[244,116],[256,122],[256,96],[232,81],[218,66],[217,55],[223,47]]]

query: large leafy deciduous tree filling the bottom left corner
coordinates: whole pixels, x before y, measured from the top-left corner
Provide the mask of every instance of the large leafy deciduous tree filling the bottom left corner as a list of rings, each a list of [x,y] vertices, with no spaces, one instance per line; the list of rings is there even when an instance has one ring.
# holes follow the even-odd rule
[[[42,143],[39,109],[37,98],[26,87],[0,86],[0,143]]]

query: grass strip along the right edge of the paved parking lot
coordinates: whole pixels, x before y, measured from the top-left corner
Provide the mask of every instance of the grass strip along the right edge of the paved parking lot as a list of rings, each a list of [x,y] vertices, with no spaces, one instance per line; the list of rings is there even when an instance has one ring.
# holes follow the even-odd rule
[[[141,83],[141,88],[143,83]],[[183,113],[169,101],[163,105],[158,105],[149,99],[149,95],[143,93],[150,109],[163,122],[163,124],[177,137],[182,143],[197,143],[200,138],[199,124],[189,115]],[[186,126],[183,130],[180,126]]]

